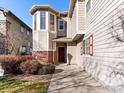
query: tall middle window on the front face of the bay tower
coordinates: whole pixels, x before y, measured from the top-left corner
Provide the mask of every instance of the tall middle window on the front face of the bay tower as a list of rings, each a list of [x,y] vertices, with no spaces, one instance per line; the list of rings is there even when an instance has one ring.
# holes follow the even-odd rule
[[[40,29],[46,29],[46,12],[40,12]]]

